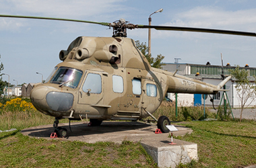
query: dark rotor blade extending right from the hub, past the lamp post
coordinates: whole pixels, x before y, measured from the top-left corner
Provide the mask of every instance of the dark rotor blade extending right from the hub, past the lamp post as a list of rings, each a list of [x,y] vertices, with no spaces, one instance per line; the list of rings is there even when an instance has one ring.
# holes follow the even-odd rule
[[[255,36],[255,32],[240,32],[234,30],[217,30],[217,29],[207,29],[207,28],[187,28],[179,26],[148,26],[148,25],[138,25],[138,28],[154,28],[156,30],[173,30],[173,31],[185,31],[185,32],[205,32],[205,33],[216,33],[216,34],[233,34],[240,36]]]

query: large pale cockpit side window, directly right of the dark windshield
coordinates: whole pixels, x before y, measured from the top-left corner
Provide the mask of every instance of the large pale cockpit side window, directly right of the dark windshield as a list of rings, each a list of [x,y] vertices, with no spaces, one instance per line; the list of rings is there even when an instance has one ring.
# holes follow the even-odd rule
[[[101,85],[101,77],[96,73],[89,73],[86,77],[86,81],[84,82],[83,91],[88,92],[90,89],[90,93],[101,93],[102,85]]]

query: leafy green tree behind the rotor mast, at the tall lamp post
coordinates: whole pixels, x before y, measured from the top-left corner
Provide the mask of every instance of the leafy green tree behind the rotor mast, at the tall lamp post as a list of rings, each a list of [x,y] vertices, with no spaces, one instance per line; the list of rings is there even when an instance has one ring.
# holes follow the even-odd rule
[[[148,46],[146,46],[146,42],[139,43],[139,40],[135,41],[135,44],[137,48],[142,52],[144,56],[146,56],[148,62],[150,62],[151,67],[161,69],[162,65],[165,65],[162,60],[164,59],[164,56],[162,54],[158,54],[156,58],[152,57],[151,54],[148,54]]]

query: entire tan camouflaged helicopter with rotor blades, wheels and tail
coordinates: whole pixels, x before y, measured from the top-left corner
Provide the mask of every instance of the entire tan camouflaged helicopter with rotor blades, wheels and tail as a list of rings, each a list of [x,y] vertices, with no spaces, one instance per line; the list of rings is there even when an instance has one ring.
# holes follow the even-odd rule
[[[224,91],[222,87],[231,76],[219,85],[212,85],[151,67],[134,40],[127,38],[127,29],[256,36],[253,32],[232,30],[135,25],[125,19],[106,23],[20,15],[0,17],[85,22],[113,28],[112,37],[79,36],[73,40],[67,50],[59,53],[62,62],[56,65],[45,83],[34,85],[30,93],[32,104],[39,112],[55,117],[53,126],[60,137],[67,136],[67,130],[58,127],[63,118],[90,119],[92,126],[99,126],[103,120],[140,120],[152,116],[167,92],[216,94]],[[170,120],[166,116],[154,120],[162,132],[169,132],[166,125],[170,125]]]

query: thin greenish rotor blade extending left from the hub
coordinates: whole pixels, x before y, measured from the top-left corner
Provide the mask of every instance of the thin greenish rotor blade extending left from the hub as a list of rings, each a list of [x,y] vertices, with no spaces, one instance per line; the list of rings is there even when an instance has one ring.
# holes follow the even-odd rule
[[[106,22],[92,22],[86,20],[78,20],[78,19],[63,19],[63,18],[55,18],[55,17],[37,17],[37,16],[26,16],[26,15],[0,15],[0,17],[14,17],[14,18],[26,18],[26,19],[49,19],[49,20],[61,20],[61,21],[69,21],[69,22],[83,22],[88,24],[100,24],[103,26],[109,26],[109,23]]]

